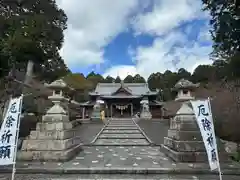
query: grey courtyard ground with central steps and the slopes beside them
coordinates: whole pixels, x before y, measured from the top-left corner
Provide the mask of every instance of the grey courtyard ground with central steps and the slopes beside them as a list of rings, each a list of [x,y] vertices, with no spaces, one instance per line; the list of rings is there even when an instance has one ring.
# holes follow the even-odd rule
[[[166,120],[110,119],[83,124],[82,151],[67,162],[17,163],[16,179],[218,179],[207,163],[177,163],[161,152]],[[223,179],[240,178],[240,166],[222,165]],[[11,167],[0,169],[10,179]]]

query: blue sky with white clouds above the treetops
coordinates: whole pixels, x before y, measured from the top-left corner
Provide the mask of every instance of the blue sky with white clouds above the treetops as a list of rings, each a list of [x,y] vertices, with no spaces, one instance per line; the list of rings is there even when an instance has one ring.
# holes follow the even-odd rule
[[[68,16],[60,54],[72,72],[104,77],[211,64],[201,0],[57,0]]]

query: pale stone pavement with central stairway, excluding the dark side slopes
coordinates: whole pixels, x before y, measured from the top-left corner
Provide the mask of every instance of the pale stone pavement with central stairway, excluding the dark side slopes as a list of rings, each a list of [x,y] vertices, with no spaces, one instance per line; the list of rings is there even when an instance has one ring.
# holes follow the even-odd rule
[[[87,143],[85,143],[83,151],[71,161],[64,163],[18,162],[17,173],[45,174],[46,177],[56,174],[56,178],[52,179],[61,179],[60,175],[65,174],[63,179],[69,180],[71,178],[68,175],[71,174],[75,174],[72,179],[80,179],[77,176],[79,174],[89,174],[85,179],[97,176],[97,174],[101,174],[98,177],[103,179],[114,179],[108,177],[110,174],[114,174],[111,177],[119,177],[118,179],[121,179],[122,176],[118,174],[125,174],[125,179],[134,179],[136,174],[139,174],[138,179],[165,178],[170,180],[169,176],[172,179],[175,177],[177,177],[175,179],[181,179],[180,175],[183,174],[182,179],[186,180],[198,179],[198,177],[203,177],[203,174],[208,174],[209,176],[200,179],[210,180],[210,174],[215,174],[211,177],[217,179],[217,172],[210,172],[209,165],[206,163],[174,163],[161,152],[161,146],[152,144],[132,119],[111,119],[99,133],[91,132],[90,134],[97,135],[91,144],[86,145]],[[2,167],[0,173],[11,173],[11,170],[11,166]],[[222,164],[222,172],[225,176],[229,175],[226,180],[229,180],[232,175],[239,175],[240,179],[239,164]]]

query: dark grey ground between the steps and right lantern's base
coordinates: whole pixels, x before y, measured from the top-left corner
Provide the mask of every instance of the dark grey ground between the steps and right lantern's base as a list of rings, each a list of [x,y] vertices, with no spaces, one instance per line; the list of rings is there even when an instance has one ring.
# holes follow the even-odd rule
[[[140,120],[138,125],[154,144],[163,144],[163,139],[167,136],[169,120]]]

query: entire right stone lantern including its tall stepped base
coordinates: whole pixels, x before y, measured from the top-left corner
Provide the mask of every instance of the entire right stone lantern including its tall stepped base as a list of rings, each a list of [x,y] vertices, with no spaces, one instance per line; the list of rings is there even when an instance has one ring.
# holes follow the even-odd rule
[[[196,117],[190,100],[195,99],[191,92],[199,85],[181,79],[174,87],[178,91],[175,101],[180,109],[170,121],[167,136],[164,137],[162,152],[175,162],[207,163],[207,154],[203,139],[196,123]],[[219,152],[221,161],[227,161],[224,151]]]

